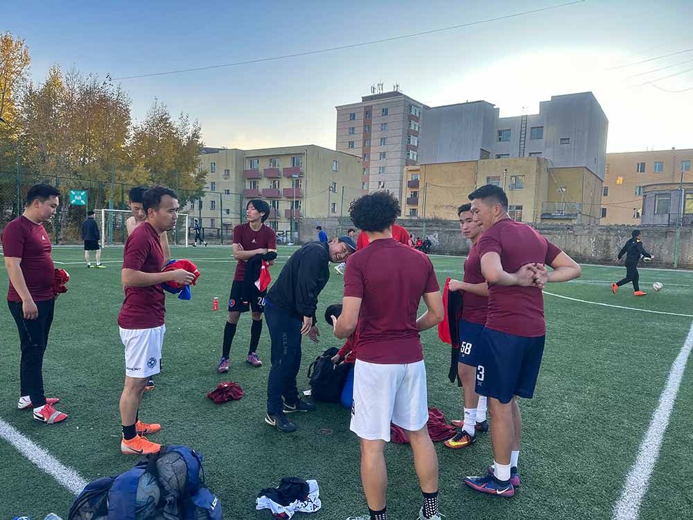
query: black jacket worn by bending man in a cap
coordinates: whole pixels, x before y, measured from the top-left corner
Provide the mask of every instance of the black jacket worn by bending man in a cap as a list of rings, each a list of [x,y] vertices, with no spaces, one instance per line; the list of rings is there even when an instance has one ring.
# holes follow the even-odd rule
[[[309,242],[291,255],[274,282],[267,300],[295,317],[312,316],[317,295],[330,279],[330,253],[326,242]]]

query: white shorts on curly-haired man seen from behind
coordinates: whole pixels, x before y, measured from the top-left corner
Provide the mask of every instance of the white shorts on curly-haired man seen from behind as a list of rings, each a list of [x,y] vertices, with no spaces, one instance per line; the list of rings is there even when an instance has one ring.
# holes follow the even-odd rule
[[[390,422],[408,431],[426,426],[426,365],[379,365],[357,359],[349,429],[365,440],[389,442]]]

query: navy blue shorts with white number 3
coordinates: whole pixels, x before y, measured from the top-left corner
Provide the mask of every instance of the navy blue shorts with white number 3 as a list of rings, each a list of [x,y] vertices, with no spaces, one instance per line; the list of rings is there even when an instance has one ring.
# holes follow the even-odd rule
[[[509,403],[513,395],[531,399],[544,353],[545,336],[525,338],[484,328],[477,361],[476,392]]]

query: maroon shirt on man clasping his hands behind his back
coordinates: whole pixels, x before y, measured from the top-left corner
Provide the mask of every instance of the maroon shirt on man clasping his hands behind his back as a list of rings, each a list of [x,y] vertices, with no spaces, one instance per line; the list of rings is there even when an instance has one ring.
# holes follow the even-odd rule
[[[477,242],[479,258],[495,252],[505,272],[517,272],[526,263],[550,265],[561,253],[536,230],[512,218],[491,226]],[[495,331],[536,338],[544,336],[544,299],[536,287],[489,284],[489,311],[486,327]]]

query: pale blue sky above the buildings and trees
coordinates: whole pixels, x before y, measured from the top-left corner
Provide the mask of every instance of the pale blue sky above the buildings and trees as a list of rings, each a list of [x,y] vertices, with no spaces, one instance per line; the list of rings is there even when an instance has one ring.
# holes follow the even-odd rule
[[[51,64],[117,78],[376,40],[565,1],[227,0],[197,7],[26,0],[3,6],[0,31],[26,39],[36,82]],[[693,51],[607,70],[693,49],[691,19],[690,0],[586,0],[395,42],[119,83],[135,119],[158,98],[171,112],[199,119],[208,146],[334,148],[335,105],[360,101],[382,80],[430,106],[484,99],[501,116],[591,90],[609,119],[608,151],[693,148],[693,89],[670,94],[639,85],[693,69]],[[693,71],[657,85],[693,87]]]

